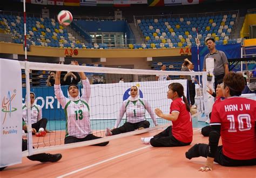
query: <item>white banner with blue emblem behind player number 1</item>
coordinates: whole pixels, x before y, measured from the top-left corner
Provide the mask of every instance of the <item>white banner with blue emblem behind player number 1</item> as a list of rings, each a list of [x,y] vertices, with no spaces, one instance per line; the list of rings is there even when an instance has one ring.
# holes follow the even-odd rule
[[[132,85],[139,85],[140,98],[149,101],[151,108],[160,108],[164,113],[170,112],[172,100],[167,99],[168,86],[178,82],[184,87],[187,93],[187,80],[169,81],[143,81],[139,83],[116,83],[91,85],[90,119],[116,119],[119,109],[125,99],[130,96]],[[126,118],[124,115],[123,118]],[[146,112],[146,118],[150,118]]]

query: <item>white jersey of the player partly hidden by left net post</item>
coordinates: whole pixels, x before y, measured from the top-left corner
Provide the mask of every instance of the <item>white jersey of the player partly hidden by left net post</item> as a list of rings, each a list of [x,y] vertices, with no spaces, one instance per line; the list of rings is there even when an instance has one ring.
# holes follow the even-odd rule
[[[39,105],[32,104],[31,105],[31,124],[35,124],[39,120],[42,119],[42,108]],[[23,104],[22,106],[22,118],[25,122],[28,122],[28,119],[26,118],[26,105]]]

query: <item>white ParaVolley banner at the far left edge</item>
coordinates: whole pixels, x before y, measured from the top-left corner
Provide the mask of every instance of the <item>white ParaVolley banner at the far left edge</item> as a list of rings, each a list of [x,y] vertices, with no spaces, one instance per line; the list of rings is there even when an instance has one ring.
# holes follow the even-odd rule
[[[22,161],[22,77],[19,61],[0,59],[0,167]]]

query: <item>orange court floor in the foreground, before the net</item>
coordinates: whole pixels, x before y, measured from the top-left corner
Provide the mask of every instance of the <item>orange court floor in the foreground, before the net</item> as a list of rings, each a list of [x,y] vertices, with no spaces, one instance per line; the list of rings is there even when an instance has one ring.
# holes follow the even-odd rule
[[[194,130],[190,146],[154,148],[142,144],[141,137],[153,136],[161,131],[158,130],[112,140],[105,147],[87,146],[53,152],[63,155],[56,163],[23,158],[22,164],[6,168],[0,172],[0,177],[256,177],[256,166],[216,164],[212,172],[198,172],[206,159],[185,158],[186,150],[194,143],[208,142],[208,138],[197,130]]]

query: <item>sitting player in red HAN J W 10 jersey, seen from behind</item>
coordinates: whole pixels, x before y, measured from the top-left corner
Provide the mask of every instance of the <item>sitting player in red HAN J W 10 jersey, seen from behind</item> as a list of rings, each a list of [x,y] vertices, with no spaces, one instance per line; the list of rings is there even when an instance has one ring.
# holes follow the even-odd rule
[[[222,166],[256,165],[256,101],[239,97],[244,90],[242,74],[229,72],[223,79],[223,101],[214,104],[208,145],[199,143],[186,152],[186,158],[207,158],[201,171]],[[218,146],[219,138],[223,145]]]

